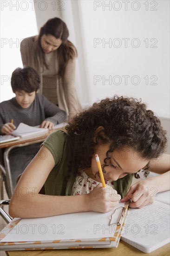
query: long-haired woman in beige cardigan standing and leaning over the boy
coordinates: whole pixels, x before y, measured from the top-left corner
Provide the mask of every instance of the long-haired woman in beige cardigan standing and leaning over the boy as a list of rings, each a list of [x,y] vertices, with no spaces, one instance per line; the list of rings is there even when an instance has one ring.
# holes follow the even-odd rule
[[[40,75],[40,93],[71,118],[81,106],[74,87],[77,50],[68,36],[65,22],[52,18],[39,35],[21,41],[20,52],[23,66],[33,67]]]

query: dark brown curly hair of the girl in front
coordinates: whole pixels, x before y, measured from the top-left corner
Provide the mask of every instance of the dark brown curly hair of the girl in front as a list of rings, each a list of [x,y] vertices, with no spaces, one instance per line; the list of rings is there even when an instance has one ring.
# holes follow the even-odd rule
[[[99,126],[104,129],[96,134]],[[80,151],[73,159],[75,172],[78,174],[79,170],[91,166],[98,141],[110,144],[104,160],[105,166],[110,153],[115,149],[120,150],[128,146],[137,151],[142,158],[151,160],[163,153],[167,142],[166,131],[163,130],[160,120],[153,111],[146,109],[146,104],[141,100],[117,95],[84,109],[68,122],[65,129],[71,136],[81,136]],[[146,170],[144,175],[148,174]],[[135,176],[139,177],[137,174]]]

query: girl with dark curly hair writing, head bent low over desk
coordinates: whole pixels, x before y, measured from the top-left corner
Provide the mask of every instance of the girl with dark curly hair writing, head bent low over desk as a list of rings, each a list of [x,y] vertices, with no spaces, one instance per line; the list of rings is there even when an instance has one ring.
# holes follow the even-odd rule
[[[65,130],[53,132],[42,143],[14,190],[9,214],[30,218],[108,212],[121,198],[122,202],[131,199],[132,208],[152,203],[152,188],[157,192],[170,189],[170,155],[163,155],[165,134],[160,120],[141,101],[114,96],[94,103]],[[105,188],[95,154],[100,158]],[[160,175],[131,186],[141,169],[145,176],[149,171]]]

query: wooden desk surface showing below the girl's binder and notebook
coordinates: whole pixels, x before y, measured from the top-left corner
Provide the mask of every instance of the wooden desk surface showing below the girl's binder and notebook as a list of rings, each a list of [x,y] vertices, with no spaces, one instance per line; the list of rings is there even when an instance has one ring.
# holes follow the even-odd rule
[[[170,244],[144,253],[120,241],[118,248],[7,251],[9,256],[170,256]]]

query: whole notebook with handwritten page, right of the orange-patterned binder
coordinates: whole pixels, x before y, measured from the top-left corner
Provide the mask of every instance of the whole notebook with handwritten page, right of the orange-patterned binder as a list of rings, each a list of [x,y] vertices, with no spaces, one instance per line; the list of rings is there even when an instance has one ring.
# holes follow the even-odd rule
[[[128,209],[121,236],[121,240],[145,253],[170,243],[170,191],[158,193],[155,198],[153,204],[142,209]]]

